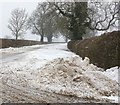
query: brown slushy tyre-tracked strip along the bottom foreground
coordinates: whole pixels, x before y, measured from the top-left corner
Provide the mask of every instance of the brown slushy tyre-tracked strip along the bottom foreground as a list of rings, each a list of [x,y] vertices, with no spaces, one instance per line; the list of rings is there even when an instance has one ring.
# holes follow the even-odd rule
[[[109,102],[109,100],[90,100],[57,94],[44,90],[37,90],[25,87],[16,87],[13,84],[3,84],[2,98],[3,103],[89,103],[89,102]],[[32,92],[32,94],[31,94]],[[33,94],[34,93],[34,94]],[[12,100],[12,101],[11,101]]]

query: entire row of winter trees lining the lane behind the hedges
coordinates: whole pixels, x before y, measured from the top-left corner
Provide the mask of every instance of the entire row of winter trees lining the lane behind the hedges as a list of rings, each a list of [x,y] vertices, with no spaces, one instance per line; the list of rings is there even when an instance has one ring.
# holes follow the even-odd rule
[[[27,29],[52,41],[61,33],[71,40],[82,40],[83,35],[118,27],[120,19],[119,2],[43,2],[30,17],[24,9],[15,9],[9,19],[8,28],[16,36],[23,35]]]

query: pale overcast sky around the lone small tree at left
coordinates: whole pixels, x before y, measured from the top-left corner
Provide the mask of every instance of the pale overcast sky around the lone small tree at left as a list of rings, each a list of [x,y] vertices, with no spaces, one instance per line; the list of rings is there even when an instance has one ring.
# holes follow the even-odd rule
[[[43,2],[43,0],[0,0],[0,37],[9,36],[10,38],[14,38],[7,26],[8,20],[11,17],[11,12],[15,8],[25,8],[28,15],[30,15],[33,10],[35,10],[38,1]],[[25,38],[40,39],[38,36],[32,35],[30,32],[25,35]]]

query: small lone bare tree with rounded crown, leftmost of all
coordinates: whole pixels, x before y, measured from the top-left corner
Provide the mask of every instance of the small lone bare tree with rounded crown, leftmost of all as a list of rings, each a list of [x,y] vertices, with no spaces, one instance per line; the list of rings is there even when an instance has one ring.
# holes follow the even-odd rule
[[[11,13],[11,18],[9,19],[8,28],[11,30],[12,34],[16,37],[16,40],[21,35],[25,34],[27,13],[25,9],[15,9]]]

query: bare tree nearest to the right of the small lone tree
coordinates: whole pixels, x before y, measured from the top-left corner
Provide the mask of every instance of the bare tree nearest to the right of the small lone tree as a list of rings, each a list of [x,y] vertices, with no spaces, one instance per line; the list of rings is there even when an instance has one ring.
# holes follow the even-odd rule
[[[44,40],[44,27],[46,21],[46,12],[48,11],[47,2],[39,3],[36,10],[32,13],[28,20],[29,28],[32,30],[33,34],[40,35],[40,41]]]

